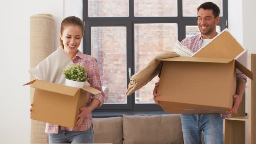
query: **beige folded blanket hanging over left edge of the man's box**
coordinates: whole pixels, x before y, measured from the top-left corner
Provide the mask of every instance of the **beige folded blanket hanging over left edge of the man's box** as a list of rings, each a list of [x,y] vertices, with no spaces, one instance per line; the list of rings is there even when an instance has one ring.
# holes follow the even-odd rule
[[[175,52],[164,51],[155,56],[143,69],[138,73],[131,76],[126,95],[131,95],[133,92],[137,91],[148,82],[150,82],[156,75],[158,75],[161,69],[161,61],[158,59],[167,59],[172,57],[180,56]]]

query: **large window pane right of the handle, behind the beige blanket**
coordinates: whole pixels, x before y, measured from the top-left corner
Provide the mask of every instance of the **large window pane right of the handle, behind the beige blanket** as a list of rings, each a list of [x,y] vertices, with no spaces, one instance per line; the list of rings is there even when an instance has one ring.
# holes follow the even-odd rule
[[[177,34],[177,23],[135,23],[135,73],[143,69],[158,52],[172,50],[171,42],[177,39]],[[159,78],[156,76],[151,82],[136,91],[135,104],[154,103],[152,93],[155,82],[158,81]]]

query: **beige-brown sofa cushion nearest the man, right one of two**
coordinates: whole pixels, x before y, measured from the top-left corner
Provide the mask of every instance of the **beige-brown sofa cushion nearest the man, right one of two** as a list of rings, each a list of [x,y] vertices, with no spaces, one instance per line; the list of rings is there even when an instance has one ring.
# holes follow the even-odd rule
[[[123,144],[183,144],[180,115],[123,115]]]

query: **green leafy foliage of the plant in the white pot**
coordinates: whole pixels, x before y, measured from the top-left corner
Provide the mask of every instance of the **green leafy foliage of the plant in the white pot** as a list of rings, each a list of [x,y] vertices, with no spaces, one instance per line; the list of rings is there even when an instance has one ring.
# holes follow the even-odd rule
[[[77,82],[85,82],[87,80],[87,69],[80,63],[78,65],[69,65],[69,68],[65,69],[63,74],[69,80]]]

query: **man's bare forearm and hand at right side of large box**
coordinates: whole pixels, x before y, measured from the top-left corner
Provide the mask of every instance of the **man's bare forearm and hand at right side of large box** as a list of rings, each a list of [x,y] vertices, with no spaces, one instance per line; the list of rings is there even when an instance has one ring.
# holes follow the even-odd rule
[[[245,92],[246,80],[239,79],[236,83],[236,95],[233,95],[234,105],[231,111],[226,111],[226,113],[235,114],[239,108],[239,105],[243,99],[243,94]]]

